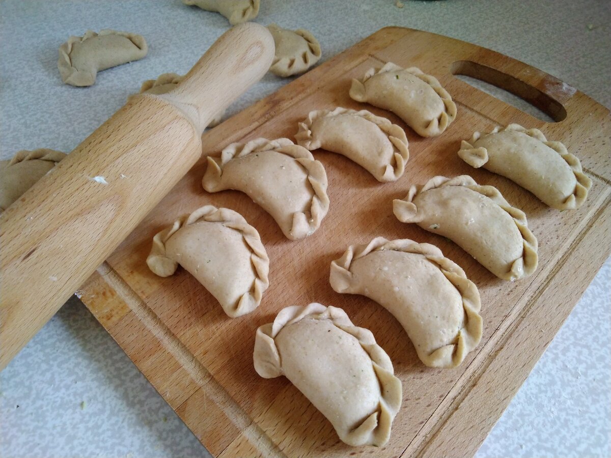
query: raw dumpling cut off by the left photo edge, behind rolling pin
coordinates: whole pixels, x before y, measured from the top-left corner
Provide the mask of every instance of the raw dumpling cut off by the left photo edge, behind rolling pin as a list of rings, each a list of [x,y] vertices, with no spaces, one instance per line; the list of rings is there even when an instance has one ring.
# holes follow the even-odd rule
[[[46,175],[65,153],[41,148],[18,151],[10,161],[0,161],[0,213]]]

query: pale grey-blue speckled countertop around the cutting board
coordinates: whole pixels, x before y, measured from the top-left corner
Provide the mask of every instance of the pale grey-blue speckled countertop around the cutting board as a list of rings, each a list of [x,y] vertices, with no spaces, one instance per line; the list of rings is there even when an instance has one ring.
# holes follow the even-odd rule
[[[0,158],[70,151],[160,73],[185,73],[228,27],[180,0],[0,2]],[[262,0],[261,24],[309,28],[323,61],[381,27],[413,27],[491,48],[611,106],[611,2]],[[147,38],[148,56],[62,84],[68,35],[113,28]],[[235,114],[285,80],[267,75]],[[611,262],[596,276],[478,451],[478,457],[609,456]],[[73,298],[0,373],[0,456],[207,456],[129,358]]]

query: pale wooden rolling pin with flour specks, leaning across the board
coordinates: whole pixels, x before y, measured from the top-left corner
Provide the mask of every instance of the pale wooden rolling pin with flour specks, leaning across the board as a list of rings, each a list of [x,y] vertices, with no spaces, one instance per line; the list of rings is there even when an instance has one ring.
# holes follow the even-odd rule
[[[131,97],[2,213],[0,370],[191,169],[203,129],[273,58],[266,27],[233,27],[172,92]]]

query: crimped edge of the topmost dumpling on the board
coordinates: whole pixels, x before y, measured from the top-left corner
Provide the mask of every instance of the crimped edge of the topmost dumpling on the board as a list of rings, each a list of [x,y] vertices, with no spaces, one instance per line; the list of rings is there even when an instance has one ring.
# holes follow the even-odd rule
[[[456,104],[452,100],[452,96],[447,92],[447,90],[442,87],[441,83],[437,78],[431,75],[426,75],[420,68],[417,67],[409,67],[403,68],[399,67],[397,64],[393,64],[392,62],[387,62],[384,64],[382,68],[376,70],[375,68],[370,68],[365,72],[365,76],[362,81],[354,78],[352,80],[352,85],[350,87],[349,95],[353,100],[358,102],[367,102],[367,90],[365,88],[365,82],[370,79],[372,76],[379,75],[380,73],[386,73],[387,71],[407,71],[417,78],[424,81],[426,84],[430,85],[431,88],[435,91],[439,98],[444,103],[445,111],[441,112],[439,117],[431,119],[429,125],[426,129],[419,129],[417,132],[420,136],[423,137],[434,137],[439,134],[442,134],[445,129],[453,122],[456,118]]]

